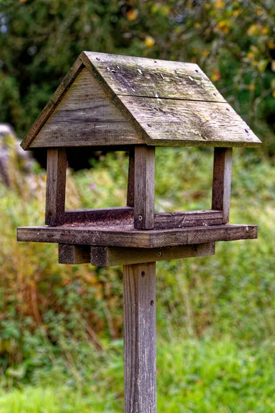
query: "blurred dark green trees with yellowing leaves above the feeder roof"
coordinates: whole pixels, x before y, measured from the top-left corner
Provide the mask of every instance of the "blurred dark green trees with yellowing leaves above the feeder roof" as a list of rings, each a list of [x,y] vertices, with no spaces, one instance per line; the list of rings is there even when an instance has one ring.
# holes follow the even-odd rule
[[[83,50],[198,63],[274,156],[273,0],[2,0],[0,120],[28,130]]]

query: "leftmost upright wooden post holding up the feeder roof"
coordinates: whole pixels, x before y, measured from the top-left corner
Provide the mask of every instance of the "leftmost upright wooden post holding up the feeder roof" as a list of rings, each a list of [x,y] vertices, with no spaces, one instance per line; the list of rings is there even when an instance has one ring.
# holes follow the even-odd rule
[[[47,150],[46,225],[63,224],[67,156],[65,148]]]

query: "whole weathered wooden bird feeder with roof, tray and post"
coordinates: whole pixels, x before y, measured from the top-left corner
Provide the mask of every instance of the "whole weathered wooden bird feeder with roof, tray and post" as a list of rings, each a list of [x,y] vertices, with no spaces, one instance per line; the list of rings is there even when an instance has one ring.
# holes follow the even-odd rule
[[[232,148],[259,144],[198,65],[94,52],[80,54],[21,143],[47,148],[47,192],[45,226],[19,228],[18,240],[57,243],[63,264],[124,266],[126,413],[156,412],[155,262],[257,237],[229,216]],[[169,146],[214,147],[211,209],[155,213],[155,147]],[[74,147],[129,153],[125,207],[65,211]]]

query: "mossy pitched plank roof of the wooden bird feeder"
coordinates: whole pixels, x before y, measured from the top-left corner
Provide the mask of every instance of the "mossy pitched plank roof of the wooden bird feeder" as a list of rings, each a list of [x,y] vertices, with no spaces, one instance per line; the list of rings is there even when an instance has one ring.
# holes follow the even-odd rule
[[[85,70],[89,70],[92,76],[84,76]],[[76,80],[79,81],[80,74],[86,79],[86,89],[89,89],[87,82],[98,81],[96,83],[109,99],[108,108],[115,105],[114,110],[119,109],[118,132],[120,125],[124,126],[115,138],[116,145],[120,142],[122,145],[144,142],[155,146],[254,147],[261,143],[195,63],[83,52],[25,136],[21,144],[23,149],[52,146],[50,141],[47,145],[47,139],[50,139],[53,131],[56,131],[57,136],[66,125],[71,131],[74,126],[72,123],[79,122],[76,116],[67,118],[65,123],[62,102],[67,92],[72,91]],[[91,96],[85,94],[85,88],[80,90],[78,102],[85,98],[91,100]],[[66,116],[72,114],[76,106],[72,105],[69,109]],[[54,117],[56,112],[63,113],[62,122],[61,116]],[[102,112],[103,118],[107,119],[105,124],[109,112],[110,109]],[[52,119],[52,123],[57,119],[59,123],[47,129],[49,119]],[[113,122],[111,119],[113,117],[109,119],[109,125],[98,125],[96,122],[102,122],[102,119],[94,118],[92,110],[85,114],[81,112],[81,123],[72,134],[75,142],[72,140],[70,145],[99,145],[104,131],[109,133]],[[130,129],[125,129],[127,121],[131,124]],[[79,141],[77,130],[85,129],[85,125],[89,125],[86,128],[87,137]],[[95,144],[93,139],[98,130],[101,130],[101,135],[98,135]],[[131,135],[131,140],[125,140],[126,135]],[[67,146],[62,138],[56,142],[55,146]],[[102,145],[110,145],[109,140],[103,138]]]

